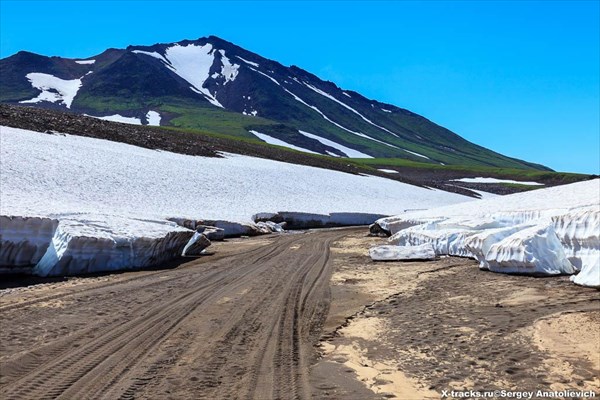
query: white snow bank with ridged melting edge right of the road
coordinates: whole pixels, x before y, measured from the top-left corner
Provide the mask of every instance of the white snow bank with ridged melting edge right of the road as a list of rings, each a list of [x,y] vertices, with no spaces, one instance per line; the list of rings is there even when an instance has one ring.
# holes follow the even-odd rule
[[[600,287],[600,180],[409,211],[378,220],[373,233],[437,255],[473,257],[480,268],[532,275],[579,274]]]

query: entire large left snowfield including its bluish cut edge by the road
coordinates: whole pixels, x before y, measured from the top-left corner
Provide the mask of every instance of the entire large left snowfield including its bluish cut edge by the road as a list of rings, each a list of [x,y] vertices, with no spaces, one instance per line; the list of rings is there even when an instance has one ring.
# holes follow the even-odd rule
[[[151,266],[191,245],[200,221],[229,234],[263,229],[251,220],[257,211],[364,224],[364,214],[355,213],[393,215],[472,200],[246,156],[196,157],[8,127],[0,127],[0,152],[0,272]]]

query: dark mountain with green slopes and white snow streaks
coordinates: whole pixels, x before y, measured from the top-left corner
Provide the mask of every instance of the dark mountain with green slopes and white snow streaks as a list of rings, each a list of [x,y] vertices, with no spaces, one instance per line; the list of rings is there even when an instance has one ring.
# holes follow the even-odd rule
[[[214,36],[108,49],[88,59],[22,51],[0,60],[0,101],[337,157],[544,169]]]

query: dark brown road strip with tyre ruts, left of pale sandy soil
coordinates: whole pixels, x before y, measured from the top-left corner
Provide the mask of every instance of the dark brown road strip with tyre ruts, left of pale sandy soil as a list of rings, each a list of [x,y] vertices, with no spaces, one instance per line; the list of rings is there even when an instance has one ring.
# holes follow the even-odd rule
[[[240,241],[177,269],[9,290],[2,398],[309,398],[329,246],[349,232]]]

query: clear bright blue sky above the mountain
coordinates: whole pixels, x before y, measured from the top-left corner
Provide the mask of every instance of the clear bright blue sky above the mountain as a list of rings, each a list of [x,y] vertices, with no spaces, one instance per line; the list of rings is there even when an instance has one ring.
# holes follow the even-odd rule
[[[216,35],[555,170],[600,173],[600,2],[8,1],[0,55]]]

